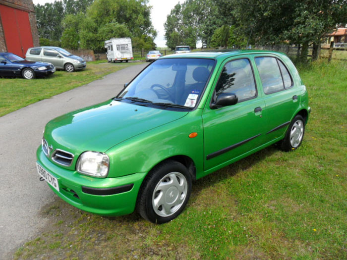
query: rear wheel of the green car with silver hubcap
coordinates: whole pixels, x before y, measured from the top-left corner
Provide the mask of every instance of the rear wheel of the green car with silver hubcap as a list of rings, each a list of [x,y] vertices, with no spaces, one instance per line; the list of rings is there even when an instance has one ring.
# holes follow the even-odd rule
[[[302,143],[304,133],[305,121],[301,115],[295,115],[289,124],[285,138],[279,143],[280,149],[285,152],[296,150]]]

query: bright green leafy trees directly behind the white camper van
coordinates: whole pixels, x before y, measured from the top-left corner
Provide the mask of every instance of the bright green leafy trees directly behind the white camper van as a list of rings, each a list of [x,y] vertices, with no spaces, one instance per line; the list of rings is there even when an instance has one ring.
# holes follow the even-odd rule
[[[86,13],[66,15],[62,26],[74,28],[82,49],[104,51],[105,40],[115,37],[131,37],[134,48],[153,47],[157,32],[150,11],[147,0],[95,0]]]

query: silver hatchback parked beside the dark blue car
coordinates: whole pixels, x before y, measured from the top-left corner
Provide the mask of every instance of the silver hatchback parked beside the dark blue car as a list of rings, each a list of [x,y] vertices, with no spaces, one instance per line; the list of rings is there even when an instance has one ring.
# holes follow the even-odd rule
[[[51,46],[42,46],[29,48],[25,58],[32,61],[43,61],[52,63],[57,69],[63,69],[67,72],[82,70],[86,67],[86,61],[70,52]]]

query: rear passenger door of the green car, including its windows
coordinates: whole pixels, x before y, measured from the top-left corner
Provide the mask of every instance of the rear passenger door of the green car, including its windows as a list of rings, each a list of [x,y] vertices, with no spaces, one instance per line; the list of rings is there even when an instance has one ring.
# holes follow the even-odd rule
[[[265,143],[281,137],[300,104],[300,93],[285,63],[277,56],[256,55],[254,61],[267,111]]]

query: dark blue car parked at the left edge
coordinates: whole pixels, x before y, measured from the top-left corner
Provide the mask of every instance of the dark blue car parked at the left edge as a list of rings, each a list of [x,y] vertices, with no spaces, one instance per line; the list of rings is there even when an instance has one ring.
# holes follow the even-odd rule
[[[28,61],[10,52],[0,52],[0,76],[33,79],[55,71],[51,63]]]

